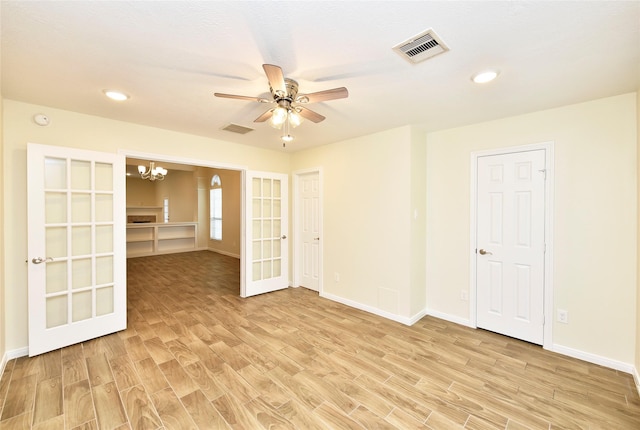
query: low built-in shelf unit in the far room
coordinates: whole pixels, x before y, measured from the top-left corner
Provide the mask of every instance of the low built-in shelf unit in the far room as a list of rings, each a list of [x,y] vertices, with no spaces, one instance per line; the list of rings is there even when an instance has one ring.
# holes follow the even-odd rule
[[[195,222],[127,224],[127,257],[194,251]]]

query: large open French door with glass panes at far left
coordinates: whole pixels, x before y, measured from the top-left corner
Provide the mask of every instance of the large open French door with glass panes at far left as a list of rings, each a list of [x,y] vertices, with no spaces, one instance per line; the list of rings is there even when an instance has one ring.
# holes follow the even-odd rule
[[[124,330],[124,156],[29,144],[29,355]]]

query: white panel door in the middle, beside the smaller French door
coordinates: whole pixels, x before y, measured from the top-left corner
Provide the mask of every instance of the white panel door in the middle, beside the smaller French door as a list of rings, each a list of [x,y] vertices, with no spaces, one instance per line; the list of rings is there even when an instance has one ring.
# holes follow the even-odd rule
[[[320,281],[320,175],[299,176],[300,285],[318,291]]]

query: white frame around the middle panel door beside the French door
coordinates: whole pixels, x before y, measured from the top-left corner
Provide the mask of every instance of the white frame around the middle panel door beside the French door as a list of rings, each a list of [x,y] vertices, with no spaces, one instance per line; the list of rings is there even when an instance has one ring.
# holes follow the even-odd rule
[[[306,175],[309,173],[317,173],[318,174],[318,192],[319,192],[319,199],[318,199],[318,204],[319,204],[319,208],[318,208],[318,223],[320,224],[319,228],[320,228],[320,244],[319,244],[319,249],[318,249],[318,293],[320,294],[320,296],[322,296],[322,292],[323,292],[323,249],[324,249],[324,238],[323,233],[324,233],[324,229],[323,229],[323,207],[324,207],[324,201],[323,201],[323,174],[322,174],[322,167],[311,167],[309,169],[303,169],[303,170],[296,170],[295,172],[293,172],[292,176],[293,176],[293,219],[291,220],[293,222],[293,237],[295,238],[294,240],[294,244],[293,244],[293,260],[292,260],[292,268],[293,268],[293,287],[298,287],[300,286],[300,278],[301,278],[301,268],[300,268],[300,264],[302,261],[302,244],[301,244],[301,237],[302,237],[302,227],[301,227],[301,223],[300,223],[300,217],[302,216],[302,205],[300,204],[300,177],[302,175]]]

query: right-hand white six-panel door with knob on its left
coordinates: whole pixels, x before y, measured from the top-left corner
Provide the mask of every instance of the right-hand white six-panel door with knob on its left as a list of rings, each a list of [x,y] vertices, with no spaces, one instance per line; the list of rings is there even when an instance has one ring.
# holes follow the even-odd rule
[[[544,338],[545,150],[478,157],[477,325]]]

